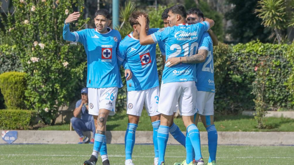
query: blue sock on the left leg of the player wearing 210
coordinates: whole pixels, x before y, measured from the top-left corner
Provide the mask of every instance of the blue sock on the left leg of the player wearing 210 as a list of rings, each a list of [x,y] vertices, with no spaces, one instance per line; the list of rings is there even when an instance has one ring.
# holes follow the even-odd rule
[[[161,162],[164,161],[166,143],[168,141],[168,130],[169,130],[168,126],[159,125],[158,131],[157,131],[158,164],[161,164]]]

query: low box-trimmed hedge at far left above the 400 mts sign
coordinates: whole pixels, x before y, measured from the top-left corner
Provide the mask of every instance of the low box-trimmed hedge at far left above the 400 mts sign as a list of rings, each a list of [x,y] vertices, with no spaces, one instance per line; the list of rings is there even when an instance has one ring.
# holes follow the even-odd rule
[[[34,111],[31,110],[0,110],[1,130],[28,130],[34,118]]]

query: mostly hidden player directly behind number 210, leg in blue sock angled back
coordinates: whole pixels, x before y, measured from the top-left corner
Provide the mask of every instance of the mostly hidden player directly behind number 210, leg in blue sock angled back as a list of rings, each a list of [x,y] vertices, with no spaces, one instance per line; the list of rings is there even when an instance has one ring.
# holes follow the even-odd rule
[[[167,21],[167,18],[168,18],[168,12],[169,12],[169,8],[166,8],[164,9],[163,13],[161,14],[161,19],[163,20],[163,26],[164,28],[168,27],[170,24],[169,22]],[[159,49],[161,51],[161,57],[162,57],[162,67],[164,69],[164,65],[165,65],[165,62],[166,62],[166,50],[165,50],[165,43],[163,41],[161,42],[158,42],[158,46],[159,46]],[[173,117],[174,115],[176,114],[178,110],[178,104],[176,106],[176,109],[175,109],[175,112],[173,113]],[[175,124],[173,123],[173,117],[171,119],[171,125],[169,126],[169,133],[180,143],[182,144],[184,147],[186,145],[186,137],[185,135],[181,132],[180,128]]]

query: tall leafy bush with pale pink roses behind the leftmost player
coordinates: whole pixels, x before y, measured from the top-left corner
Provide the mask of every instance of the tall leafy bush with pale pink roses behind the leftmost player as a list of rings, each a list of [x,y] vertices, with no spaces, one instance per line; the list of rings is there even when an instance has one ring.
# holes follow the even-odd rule
[[[37,110],[45,124],[54,124],[59,107],[78,90],[86,68],[81,44],[63,40],[64,20],[69,13],[82,13],[84,1],[12,1],[15,12],[4,19],[6,35],[13,44],[26,72],[28,109]],[[71,30],[84,28],[79,18]],[[21,30],[19,30],[21,29]]]

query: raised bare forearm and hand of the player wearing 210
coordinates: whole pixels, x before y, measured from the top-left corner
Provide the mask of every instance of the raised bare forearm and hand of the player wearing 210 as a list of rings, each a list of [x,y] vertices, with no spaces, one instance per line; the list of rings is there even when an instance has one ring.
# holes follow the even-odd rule
[[[141,45],[154,44],[155,42],[153,41],[151,35],[147,35],[146,34],[146,29],[145,28],[142,28],[142,27],[146,27],[146,24],[147,24],[146,17],[144,15],[141,15],[141,16],[138,17],[137,21],[141,25],[141,30],[140,30],[140,44]]]

